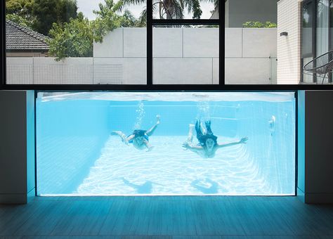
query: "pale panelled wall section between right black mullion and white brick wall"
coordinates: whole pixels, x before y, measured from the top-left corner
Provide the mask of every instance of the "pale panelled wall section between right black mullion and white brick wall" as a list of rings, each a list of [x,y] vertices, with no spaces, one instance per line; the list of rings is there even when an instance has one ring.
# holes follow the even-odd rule
[[[226,84],[276,84],[276,29],[226,28]]]

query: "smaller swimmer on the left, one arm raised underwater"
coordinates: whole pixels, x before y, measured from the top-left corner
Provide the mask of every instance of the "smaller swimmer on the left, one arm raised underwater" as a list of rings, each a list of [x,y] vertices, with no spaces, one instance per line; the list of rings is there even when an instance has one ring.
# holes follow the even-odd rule
[[[126,145],[129,145],[129,143],[133,143],[134,148],[138,150],[143,150],[147,148],[148,149],[147,151],[150,151],[154,147],[150,146],[149,136],[151,136],[154,133],[155,129],[157,128],[157,125],[159,125],[159,118],[160,116],[156,115],[157,119],[156,124],[148,130],[136,129],[129,136],[126,136],[122,131],[112,131],[112,134],[119,135],[120,138],[122,138],[122,141],[126,143]]]

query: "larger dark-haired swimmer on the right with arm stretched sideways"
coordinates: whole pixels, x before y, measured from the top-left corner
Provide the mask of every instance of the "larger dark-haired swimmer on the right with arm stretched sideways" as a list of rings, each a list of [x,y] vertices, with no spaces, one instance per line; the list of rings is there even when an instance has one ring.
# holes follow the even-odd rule
[[[190,124],[190,130],[188,131],[188,141],[183,143],[183,148],[189,149],[192,152],[197,153],[201,157],[214,157],[216,150],[218,148],[223,148],[226,146],[234,146],[239,143],[246,143],[247,137],[241,138],[239,141],[230,142],[230,143],[217,143],[217,136],[211,131],[211,121],[207,120],[205,122],[205,128],[202,126],[199,120],[194,124]],[[197,140],[199,143],[197,146],[193,145],[193,128],[197,131]]]

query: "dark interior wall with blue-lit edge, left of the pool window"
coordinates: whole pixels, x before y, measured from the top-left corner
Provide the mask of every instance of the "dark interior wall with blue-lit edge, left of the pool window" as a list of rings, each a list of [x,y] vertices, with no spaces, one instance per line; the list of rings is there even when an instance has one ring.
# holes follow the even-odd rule
[[[34,196],[34,91],[0,91],[0,203]]]

